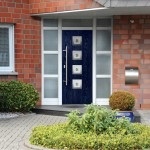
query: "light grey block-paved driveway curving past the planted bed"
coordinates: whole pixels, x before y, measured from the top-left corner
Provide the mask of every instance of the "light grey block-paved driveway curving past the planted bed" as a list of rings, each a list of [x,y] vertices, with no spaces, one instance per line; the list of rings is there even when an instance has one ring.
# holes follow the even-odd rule
[[[30,150],[24,141],[37,125],[64,122],[66,117],[26,114],[18,118],[0,120],[0,150]]]

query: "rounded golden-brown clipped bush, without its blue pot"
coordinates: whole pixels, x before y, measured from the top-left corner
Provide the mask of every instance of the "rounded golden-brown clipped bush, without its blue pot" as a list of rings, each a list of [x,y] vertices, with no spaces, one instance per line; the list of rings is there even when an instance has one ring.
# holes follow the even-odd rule
[[[114,92],[109,98],[112,109],[132,110],[135,105],[135,97],[127,91]]]

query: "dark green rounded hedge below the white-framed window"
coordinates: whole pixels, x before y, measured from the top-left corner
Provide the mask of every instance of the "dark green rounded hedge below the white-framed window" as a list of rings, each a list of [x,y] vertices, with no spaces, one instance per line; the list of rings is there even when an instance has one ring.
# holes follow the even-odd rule
[[[30,111],[39,99],[33,85],[20,81],[0,82],[0,111]]]

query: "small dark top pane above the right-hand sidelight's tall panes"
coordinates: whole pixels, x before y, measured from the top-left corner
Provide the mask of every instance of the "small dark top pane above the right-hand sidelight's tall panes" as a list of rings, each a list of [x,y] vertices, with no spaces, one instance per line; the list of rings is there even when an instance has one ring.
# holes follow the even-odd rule
[[[98,19],[96,22],[97,27],[111,27],[111,19],[110,18],[104,18],[104,19]]]

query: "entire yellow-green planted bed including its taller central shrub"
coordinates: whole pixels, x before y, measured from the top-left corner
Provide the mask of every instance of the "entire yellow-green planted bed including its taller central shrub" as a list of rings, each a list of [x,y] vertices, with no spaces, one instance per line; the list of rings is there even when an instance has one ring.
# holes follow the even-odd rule
[[[89,105],[82,116],[70,113],[64,124],[34,128],[30,142],[53,149],[139,150],[150,148],[150,127]]]

